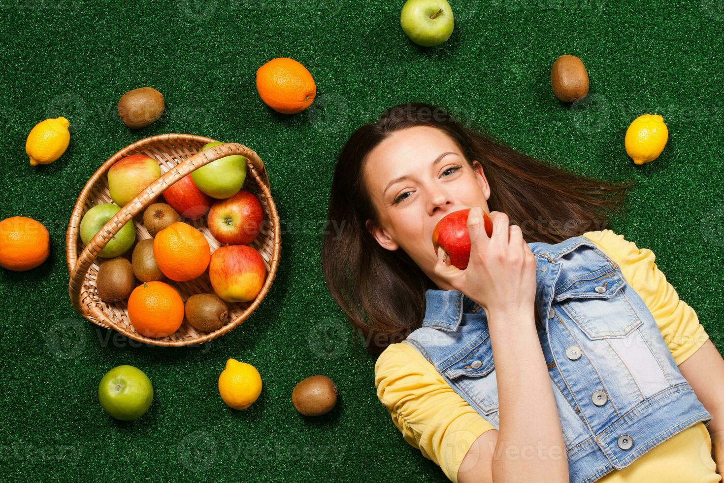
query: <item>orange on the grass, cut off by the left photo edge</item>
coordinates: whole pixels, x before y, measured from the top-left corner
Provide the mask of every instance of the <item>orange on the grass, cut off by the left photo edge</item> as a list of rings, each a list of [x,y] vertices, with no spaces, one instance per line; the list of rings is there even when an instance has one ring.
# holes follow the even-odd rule
[[[24,272],[50,255],[50,236],[41,222],[10,217],[0,222],[0,266]]]

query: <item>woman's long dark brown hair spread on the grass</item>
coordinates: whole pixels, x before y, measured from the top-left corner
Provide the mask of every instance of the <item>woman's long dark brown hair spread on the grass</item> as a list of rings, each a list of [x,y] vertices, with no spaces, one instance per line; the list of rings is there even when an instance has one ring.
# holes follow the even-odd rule
[[[468,121],[468,124],[473,124]],[[460,122],[447,110],[422,103],[387,109],[355,130],[337,159],[329,197],[322,269],[327,287],[350,323],[379,354],[420,327],[425,291],[437,288],[403,251],[382,248],[366,228],[378,222],[363,182],[367,154],[391,133],[413,126],[437,127],[455,140],[469,164],[478,160],[490,185],[491,210],[508,214],[527,242],[558,243],[607,227],[633,182],[613,184],[574,175],[521,154]],[[329,226],[329,224],[327,224]]]

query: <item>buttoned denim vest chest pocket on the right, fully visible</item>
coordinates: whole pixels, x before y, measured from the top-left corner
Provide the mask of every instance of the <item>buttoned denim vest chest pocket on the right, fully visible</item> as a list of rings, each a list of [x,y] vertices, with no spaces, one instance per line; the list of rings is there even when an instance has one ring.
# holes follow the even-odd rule
[[[604,268],[572,277],[553,298],[591,340],[626,337],[643,323],[621,290],[623,276]]]

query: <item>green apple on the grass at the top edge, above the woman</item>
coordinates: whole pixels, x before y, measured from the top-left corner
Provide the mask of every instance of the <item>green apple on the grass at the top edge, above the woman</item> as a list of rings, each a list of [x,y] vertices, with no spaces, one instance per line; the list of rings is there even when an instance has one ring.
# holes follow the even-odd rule
[[[400,12],[400,25],[414,43],[434,47],[450,38],[455,19],[447,0],[408,0]]]

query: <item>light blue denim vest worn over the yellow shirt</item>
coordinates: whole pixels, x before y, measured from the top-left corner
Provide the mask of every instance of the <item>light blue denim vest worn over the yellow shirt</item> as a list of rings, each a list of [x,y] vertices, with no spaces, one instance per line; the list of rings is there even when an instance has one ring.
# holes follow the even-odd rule
[[[681,375],[644,301],[620,267],[582,236],[529,243],[536,256],[538,329],[572,483],[622,469],[712,416]],[[405,339],[499,427],[485,311],[459,290],[427,290],[422,327]],[[531,321],[531,324],[533,322]],[[514,343],[511,341],[510,343]],[[535,395],[531,411],[535,408]]]

